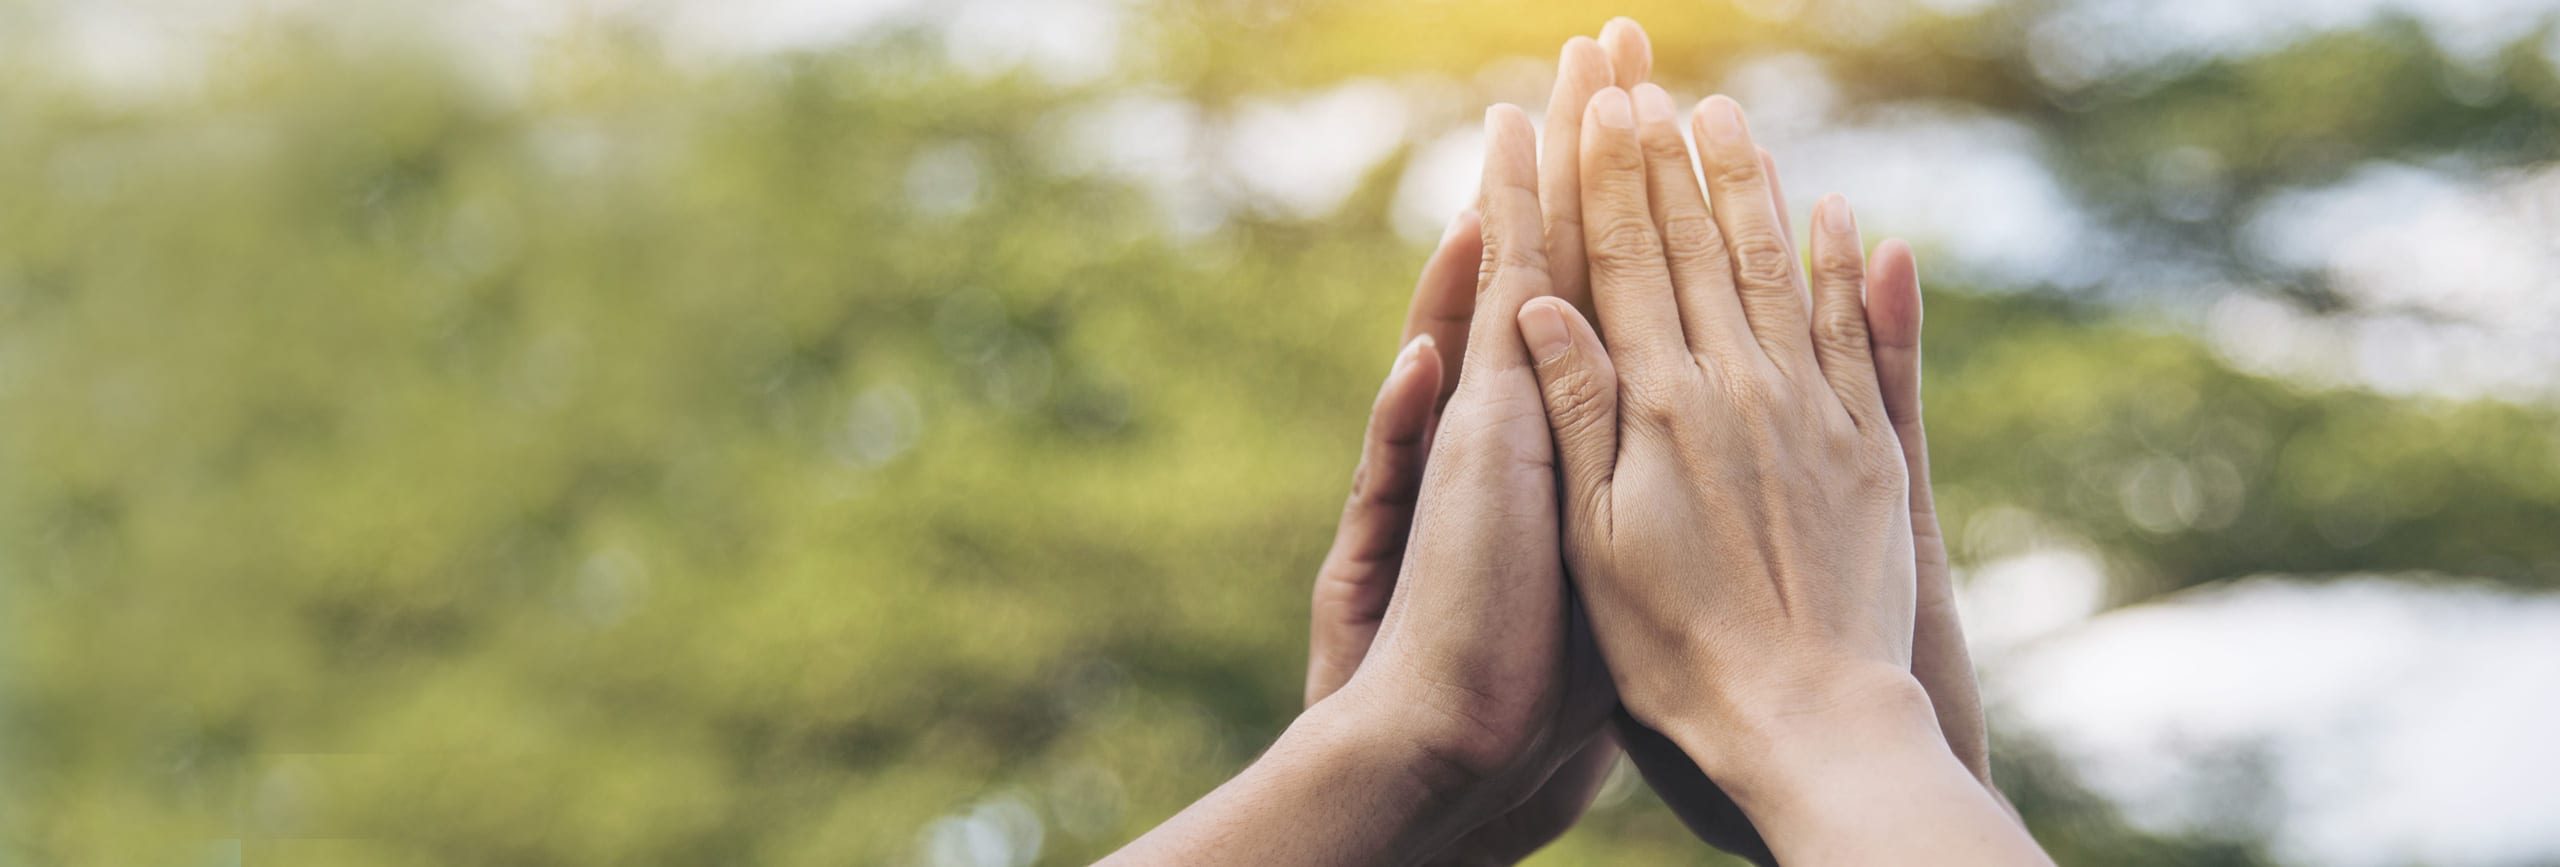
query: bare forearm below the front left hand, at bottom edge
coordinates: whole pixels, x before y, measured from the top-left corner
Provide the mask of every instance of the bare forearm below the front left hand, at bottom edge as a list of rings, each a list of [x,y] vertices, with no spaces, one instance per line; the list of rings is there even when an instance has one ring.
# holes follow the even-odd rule
[[[1428,754],[1324,701],[1103,864],[1413,864],[1469,826]]]

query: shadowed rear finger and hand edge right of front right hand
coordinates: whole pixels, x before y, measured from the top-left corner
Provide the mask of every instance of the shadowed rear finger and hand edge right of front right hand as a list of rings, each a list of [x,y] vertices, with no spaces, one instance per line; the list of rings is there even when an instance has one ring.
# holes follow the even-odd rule
[[[1981,714],[1981,685],[1964,644],[1956,586],[1946,560],[1946,532],[1928,483],[1928,432],[1920,425],[1920,269],[1902,240],[1876,246],[1866,269],[1866,332],[1876,345],[1876,384],[1884,414],[1902,442],[1910,471],[1912,555],[1917,568],[1917,619],[1912,621],[1912,678],[1938,708],[1938,731],[1956,760],[1992,783],[1992,737]]]

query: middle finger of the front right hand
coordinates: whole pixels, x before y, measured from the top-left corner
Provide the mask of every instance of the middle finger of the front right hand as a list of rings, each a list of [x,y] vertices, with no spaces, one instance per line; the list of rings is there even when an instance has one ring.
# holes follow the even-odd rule
[[[1656,84],[1636,84],[1636,138],[1644,141],[1646,199],[1654,207],[1654,230],[1661,235],[1661,253],[1672,271],[1672,297],[1679,304],[1679,330],[1690,355],[1713,358],[1720,366],[1759,366],[1761,350],[1751,340],[1751,320],[1743,317],[1741,299],[1733,297],[1733,258],[1725,256],[1725,235],[1708,215],[1708,197],[1690,171],[1690,143],[1679,141],[1679,110],[1672,95]]]

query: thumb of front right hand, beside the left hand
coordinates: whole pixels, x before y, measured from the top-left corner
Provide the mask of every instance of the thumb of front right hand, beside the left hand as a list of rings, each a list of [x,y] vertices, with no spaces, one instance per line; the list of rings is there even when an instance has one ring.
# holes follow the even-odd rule
[[[1574,304],[1528,302],[1521,307],[1521,340],[1539,368],[1546,427],[1556,437],[1564,519],[1605,522],[1608,488],[1618,471],[1618,371]]]

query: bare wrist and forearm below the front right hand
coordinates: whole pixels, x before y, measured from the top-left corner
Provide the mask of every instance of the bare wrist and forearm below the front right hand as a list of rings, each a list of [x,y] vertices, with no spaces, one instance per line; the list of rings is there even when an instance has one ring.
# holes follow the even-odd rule
[[[2051,864],[1948,752],[1917,683],[1746,729],[1672,737],[1728,767],[1718,780],[1782,864]]]

